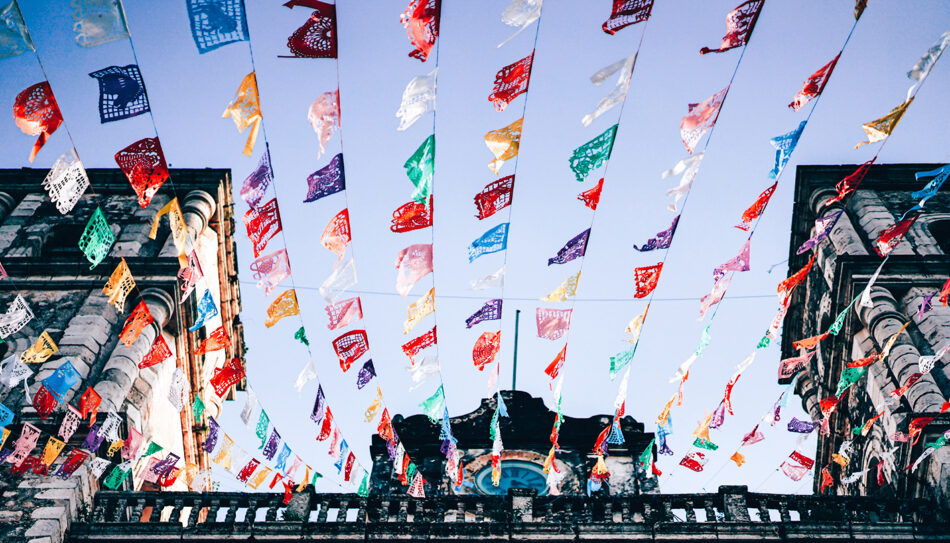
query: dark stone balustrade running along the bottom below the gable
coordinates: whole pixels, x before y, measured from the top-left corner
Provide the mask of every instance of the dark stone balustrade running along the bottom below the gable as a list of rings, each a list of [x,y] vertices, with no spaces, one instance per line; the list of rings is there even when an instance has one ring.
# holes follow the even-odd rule
[[[99,492],[71,541],[286,538],[409,540],[440,538],[603,539],[825,536],[912,539],[950,533],[947,512],[924,500],[756,494],[720,487],[715,494],[585,498],[192,492]],[[692,535],[691,535],[692,534]]]

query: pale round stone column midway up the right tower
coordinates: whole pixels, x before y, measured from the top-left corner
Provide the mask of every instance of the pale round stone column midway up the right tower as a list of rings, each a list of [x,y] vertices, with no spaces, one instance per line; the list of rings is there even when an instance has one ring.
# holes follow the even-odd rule
[[[881,349],[887,340],[907,322],[908,317],[898,310],[897,301],[886,288],[877,286],[872,288],[871,301],[874,305],[870,308],[858,307],[858,318],[867,327],[878,349]],[[920,351],[907,331],[904,331],[897,338],[885,361],[887,366],[875,365],[870,373],[875,377],[877,386],[889,393],[907,382],[907,379],[918,371],[919,358]],[[896,383],[891,382],[891,376]],[[868,386],[872,386],[870,382]],[[943,404],[943,394],[929,374],[921,377],[904,397],[910,403],[911,409],[918,413],[937,411]]]

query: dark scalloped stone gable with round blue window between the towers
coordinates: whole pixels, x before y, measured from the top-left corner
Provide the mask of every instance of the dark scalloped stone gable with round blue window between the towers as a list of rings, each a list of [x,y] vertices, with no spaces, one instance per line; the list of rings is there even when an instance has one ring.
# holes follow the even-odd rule
[[[452,434],[458,440],[456,447],[461,454],[466,483],[470,483],[458,489],[444,475],[446,459],[440,450],[439,425],[432,424],[425,415],[393,417],[396,434],[426,480],[427,496],[506,495],[512,488],[533,489],[541,496],[548,494],[542,466],[551,449],[555,413],[544,405],[541,398],[532,397],[527,392],[505,390],[501,396],[510,416],[500,419],[505,449],[501,455],[501,481],[497,487],[491,483],[492,440],[489,431],[497,409],[495,396],[483,399],[471,413],[451,418]],[[594,443],[610,421],[609,415],[586,419],[564,417],[558,438],[561,451],[554,460],[558,471],[564,474],[559,484],[562,494],[586,495],[587,479],[597,461]],[[653,434],[645,433],[643,423],[632,417],[623,417],[620,429],[624,443],[609,445],[605,463],[610,478],[599,492],[614,496],[657,492],[656,478],[638,467],[640,453],[650,445]],[[379,435],[373,436],[370,455],[373,457],[370,494],[405,494],[406,487],[393,471],[386,441]]]

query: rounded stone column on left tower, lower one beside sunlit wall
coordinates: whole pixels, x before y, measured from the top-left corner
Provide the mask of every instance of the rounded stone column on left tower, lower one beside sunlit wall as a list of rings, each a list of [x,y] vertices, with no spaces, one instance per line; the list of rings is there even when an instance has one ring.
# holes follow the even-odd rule
[[[126,347],[120,342],[109,356],[108,362],[99,375],[99,382],[93,386],[102,397],[102,406],[99,410],[103,413],[118,412],[122,407],[139,374],[139,361],[148,352],[161,328],[168,324],[174,314],[174,299],[164,290],[147,288],[142,291],[142,299],[145,300],[145,305],[152,313],[154,321],[142,330],[131,347]]]

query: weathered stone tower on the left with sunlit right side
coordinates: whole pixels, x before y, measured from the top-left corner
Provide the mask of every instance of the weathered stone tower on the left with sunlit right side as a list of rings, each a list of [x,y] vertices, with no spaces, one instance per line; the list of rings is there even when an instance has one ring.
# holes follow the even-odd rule
[[[23,424],[30,423],[42,431],[32,454],[42,452],[48,436],[57,434],[66,404],[78,406],[80,395],[92,387],[101,397],[98,419],[103,420],[110,412],[118,414],[121,436],[135,428],[143,434],[143,444],[151,440],[180,456],[179,467],[187,462],[200,469],[209,468],[208,455],[200,445],[207,430],[207,416],[218,415],[222,399],[208,380],[226,360],[243,358],[230,171],[172,170],[174,187],[166,183],[143,209],[121,171],[90,169],[91,189],[65,215],[57,211],[42,188],[46,173],[0,170],[0,263],[9,274],[9,279],[0,280],[0,311],[19,294],[35,315],[0,344],[0,358],[19,355],[45,330],[59,351],[31,368],[35,375],[27,380],[30,396],[36,394],[42,379],[66,361],[81,379],[45,421],[25,397],[22,385],[0,385],[0,403],[17,414],[7,427],[12,430],[7,447]],[[149,238],[156,212],[175,195],[204,274],[198,288],[206,286],[220,308],[218,317],[195,332],[189,332],[188,327],[201,292],[182,300],[177,251],[166,219],[162,219],[156,239]],[[97,205],[105,214],[115,243],[105,260],[90,269],[78,241]],[[120,258],[125,258],[136,282],[121,312],[110,305],[103,292]],[[148,306],[154,322],[131,346],[126,346],[118,341],[119,332],[140,301]],[[192,354],[205,335],[221,325],[231,347],[202,356]],[[157,334],[164,337],[172,356],[140,369],[138,363]],[[180,412],[168,399],[176,370],[184,374],[189,389]],[[195,397],[200,397],[207,409],[197,421],[190,408]],[[88,421],[80,423],[66,444],[66,452],[83,442],[87,428]],[[108,445],[106,442],[99,448],[99,457],[106,457]],[[91,507],[92,497],[99,490],[99,481],[90,476],[87,465],[67,480],[30,472],[15,476],[9,464],[0,467],[0,541],[61,541],[80,511]],[[139,475],[133,470],[124,488],[158,489]],[[187,490],[187,486],[177,481],[169,490]]]

